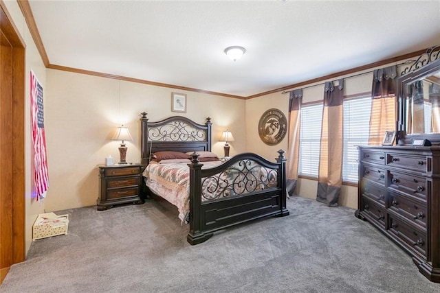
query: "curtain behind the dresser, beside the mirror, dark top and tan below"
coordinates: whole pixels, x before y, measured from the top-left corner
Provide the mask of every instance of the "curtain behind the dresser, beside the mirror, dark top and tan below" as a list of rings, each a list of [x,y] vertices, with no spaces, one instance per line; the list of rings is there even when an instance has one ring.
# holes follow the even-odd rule
[[[396,128],[396,77],[395,65],[373,71],[369,145],[382,145],[385,132]]]

